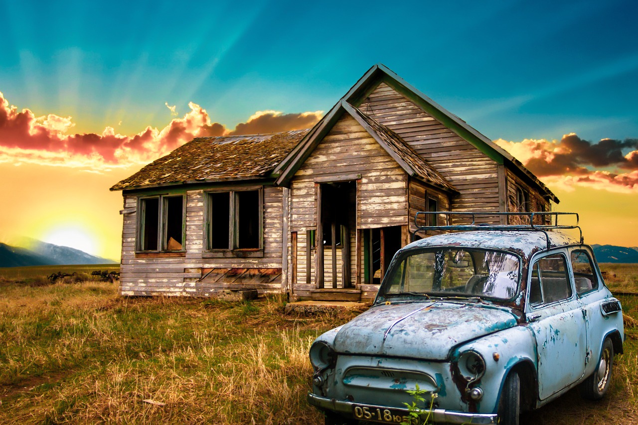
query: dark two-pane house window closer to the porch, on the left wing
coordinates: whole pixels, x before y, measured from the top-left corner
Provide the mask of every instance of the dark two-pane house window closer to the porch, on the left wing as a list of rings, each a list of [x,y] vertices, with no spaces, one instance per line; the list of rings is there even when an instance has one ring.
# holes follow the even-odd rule
[[[259,250],[262,248],[262,191],[209,192],[208,249]]]

